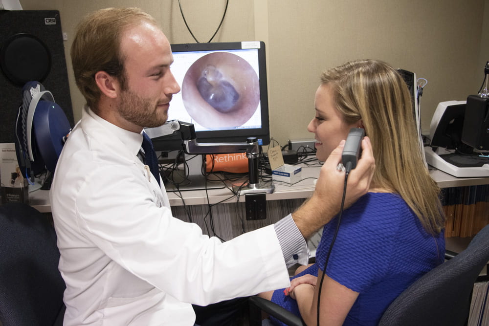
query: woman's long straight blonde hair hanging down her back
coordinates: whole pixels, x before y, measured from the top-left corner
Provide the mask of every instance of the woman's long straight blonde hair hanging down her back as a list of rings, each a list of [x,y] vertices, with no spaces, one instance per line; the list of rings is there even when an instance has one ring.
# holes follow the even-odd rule
[[[359,60],[325,71],[336,109],[347,123],[360,119],[372,141],[375,187],[398,193],[430,234],[439,234],[445,217],[440,188],[425,168],[412,96],[400,73],[375,60]]]

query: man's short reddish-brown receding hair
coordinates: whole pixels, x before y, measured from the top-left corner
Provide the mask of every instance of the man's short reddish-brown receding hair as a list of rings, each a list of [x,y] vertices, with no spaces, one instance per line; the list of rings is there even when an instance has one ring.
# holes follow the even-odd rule
[[[114,76],[125,89],[121,35],[127,28],[141,22],[156,25],[153,17],[139,8],[100,9],[85,16],[78,24],[71,45],[71,62],[76,85],[92,110],[97,110],[101,96],[94,78],[98,71]]]

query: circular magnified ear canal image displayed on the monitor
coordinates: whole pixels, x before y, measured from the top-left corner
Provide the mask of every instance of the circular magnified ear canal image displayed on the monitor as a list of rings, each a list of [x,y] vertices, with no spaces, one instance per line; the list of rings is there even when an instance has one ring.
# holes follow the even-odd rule
[[[260,80],[243,57],[211,52],[186,70],[181,96],[193,122],[209,130],[236,128],[258,109]]]

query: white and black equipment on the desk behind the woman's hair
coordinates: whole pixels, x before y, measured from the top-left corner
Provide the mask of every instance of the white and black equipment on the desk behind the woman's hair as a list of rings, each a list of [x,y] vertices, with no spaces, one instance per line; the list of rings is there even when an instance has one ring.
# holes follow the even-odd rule
[[[438,104],[431,119],[431,144],[424,148],[426,162],[456,177],[487,177],[489,159],[456,151],[460,147],[467,147],[461,141],[466,103],[467,101],[447,101]]]

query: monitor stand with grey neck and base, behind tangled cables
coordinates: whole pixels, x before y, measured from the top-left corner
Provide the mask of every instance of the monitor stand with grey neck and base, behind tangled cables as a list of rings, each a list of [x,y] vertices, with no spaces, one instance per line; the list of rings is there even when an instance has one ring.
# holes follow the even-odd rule
[[[225,187],[223,182],[208,181],[206,176],[202,175],[203,154],[185,154],[184,156],[187,164],[183,165],[183,171],[179,170],[172,173],[170,177],[173,183],[168,178],[164,178],[167,192],[222,189]]]

